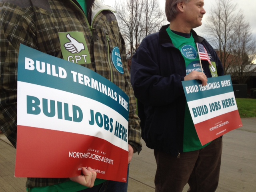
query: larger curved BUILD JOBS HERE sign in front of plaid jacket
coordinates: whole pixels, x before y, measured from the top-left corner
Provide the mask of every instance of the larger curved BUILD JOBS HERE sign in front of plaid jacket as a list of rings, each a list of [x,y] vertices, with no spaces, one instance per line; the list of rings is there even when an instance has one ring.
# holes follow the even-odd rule
[[[90,166],[126,182],[128,102],[92,70],[21,45],[15,176],[68,178]]]

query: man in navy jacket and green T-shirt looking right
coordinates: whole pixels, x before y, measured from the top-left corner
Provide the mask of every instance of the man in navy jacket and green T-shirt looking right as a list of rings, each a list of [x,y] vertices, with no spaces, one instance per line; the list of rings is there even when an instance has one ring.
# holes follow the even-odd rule
[[[222,138],[201,145],[182,87],[182,81],[205,86],[207,78],[224,75],[212,46],[192,30],[202,25],[203,6],[204,0],[166,0],[170,24],[144,38],[132,58],[142,138],[156,158],[156,192],[182,192],[187,183],[189,192],[218,186]],[[197,44],[207,59],[200,60]]]

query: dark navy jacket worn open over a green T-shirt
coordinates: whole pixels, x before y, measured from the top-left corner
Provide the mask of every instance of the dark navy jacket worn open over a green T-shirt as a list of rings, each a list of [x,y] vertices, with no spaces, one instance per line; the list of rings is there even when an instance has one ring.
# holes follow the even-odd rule
[[[163,26],[140,44],[132,58],[131,82],[138,99],[142,138],[149,148],[172,155],[183,152],[184,113],[186,98],[182,81],[186,76],[185,60],[174,47]],[[210,44],[191,31],[195,42],[206,48],[216,62],[218,76],[224,75],[220,59]],[[209,64],[202,60],[207,77],[212,77]]]

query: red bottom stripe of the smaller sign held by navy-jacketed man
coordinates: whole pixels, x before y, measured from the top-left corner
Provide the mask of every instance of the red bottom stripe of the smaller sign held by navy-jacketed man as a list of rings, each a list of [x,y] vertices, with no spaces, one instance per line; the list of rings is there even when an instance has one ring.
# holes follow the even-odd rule
[[[195,124],[202,146],[242,126],[238,110]]]

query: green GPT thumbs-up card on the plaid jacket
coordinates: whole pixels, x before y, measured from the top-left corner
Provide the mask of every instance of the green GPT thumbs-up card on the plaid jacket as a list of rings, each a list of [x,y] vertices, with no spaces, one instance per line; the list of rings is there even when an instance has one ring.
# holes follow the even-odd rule
[[[91,63],[89,50],[82,32],[59,33],[64,60],[85,64]]]

